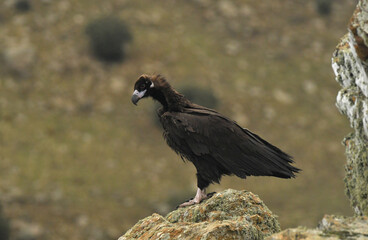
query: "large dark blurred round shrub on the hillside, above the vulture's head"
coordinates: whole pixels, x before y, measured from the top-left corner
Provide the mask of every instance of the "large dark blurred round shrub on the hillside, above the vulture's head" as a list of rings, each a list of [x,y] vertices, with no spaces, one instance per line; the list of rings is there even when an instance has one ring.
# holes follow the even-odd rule
[[[116,17],[102,17],[86,27],[94,55],[103,61],[117,62],[125,57],[124,47],[131,41],[125,23]]]

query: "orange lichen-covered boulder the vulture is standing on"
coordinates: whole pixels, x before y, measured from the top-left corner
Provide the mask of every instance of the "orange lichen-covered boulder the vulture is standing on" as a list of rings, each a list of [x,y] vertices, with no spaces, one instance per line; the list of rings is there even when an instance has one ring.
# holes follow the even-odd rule
[[[201,204],[179,208],[166,217],[140,220],[126,239],[263,239],[280,231],[276,216],[251,192],[232,189]]]

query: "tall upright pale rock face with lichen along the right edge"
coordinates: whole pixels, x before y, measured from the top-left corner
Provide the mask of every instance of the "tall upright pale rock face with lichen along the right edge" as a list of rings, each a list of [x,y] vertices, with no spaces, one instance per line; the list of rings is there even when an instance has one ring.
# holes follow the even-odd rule
[[[342,89],[336,105],[354,129],[345,137],[346,194],[358,216],[368,215],[368,1],[361,0],[332,58]]]

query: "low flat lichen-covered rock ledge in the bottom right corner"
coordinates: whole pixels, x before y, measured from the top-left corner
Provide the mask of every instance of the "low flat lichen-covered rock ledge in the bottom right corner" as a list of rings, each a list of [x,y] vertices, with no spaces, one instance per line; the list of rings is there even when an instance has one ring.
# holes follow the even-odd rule
[[[316,229],[291,228],[273,234],[267,240],[368,239],[367,217],[326,215]]]

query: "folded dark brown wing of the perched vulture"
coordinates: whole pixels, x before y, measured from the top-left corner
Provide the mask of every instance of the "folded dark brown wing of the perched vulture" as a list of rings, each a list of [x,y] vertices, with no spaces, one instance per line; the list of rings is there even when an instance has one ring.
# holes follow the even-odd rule
[[[212,109],[198,105],[184,112],[161,116],[166,139],[180,155],[196,158],[210,155],[213,161],[239,176],[294,177],[298,169],[292,157],[258,135]]]

